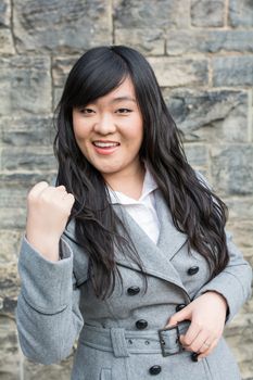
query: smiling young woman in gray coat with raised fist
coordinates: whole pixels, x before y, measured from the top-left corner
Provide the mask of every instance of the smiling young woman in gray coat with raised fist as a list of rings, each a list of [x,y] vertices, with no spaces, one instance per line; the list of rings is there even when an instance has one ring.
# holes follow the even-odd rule
[[[58,107],[55,186],[28,194],[17,328],[73,380],[239,380],[224,338],[252,271],[226,206],[188,164],[147,60],[86,52]]]

